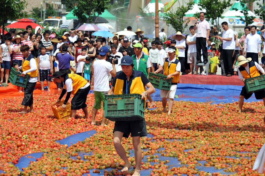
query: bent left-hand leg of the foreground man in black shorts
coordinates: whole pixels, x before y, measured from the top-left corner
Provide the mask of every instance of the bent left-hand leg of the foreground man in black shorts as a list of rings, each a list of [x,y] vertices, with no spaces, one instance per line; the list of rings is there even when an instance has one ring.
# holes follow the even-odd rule
[[[127,171],[131,167],[131,164],[126,156],[126,152],[123,146],[121,145],[122,136],[123,136],[123,132],[115,131],[114,136],[113,136],[113,144],[114,144],[115,150],[120,155],[121,159],[125,162],[125,166],[121,171]]]

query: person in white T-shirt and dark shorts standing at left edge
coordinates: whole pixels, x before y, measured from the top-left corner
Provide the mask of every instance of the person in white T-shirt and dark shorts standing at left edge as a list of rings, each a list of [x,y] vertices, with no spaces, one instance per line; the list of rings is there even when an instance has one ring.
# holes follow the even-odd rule
[[[0,62],[1,62],[1,72],[0,72],[1,81],[0,81],[0,84],[3,83],[4,71],[5,71],[5,83],[7,84],[7,82],[8,82],[9,70],[11,68],[11,57],[10,57],[10,54],[13,51],[12,48],[10,47],[11,40],[12,40],[11,37],[6,36],[5,43],[1,44],[2,57],[0,58]]]

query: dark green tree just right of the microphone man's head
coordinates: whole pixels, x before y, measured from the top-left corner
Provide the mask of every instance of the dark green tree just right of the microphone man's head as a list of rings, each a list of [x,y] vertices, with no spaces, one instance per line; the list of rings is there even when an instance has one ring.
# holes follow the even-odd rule
[[[219,29],[219,19],[223,18],[222,14],[224,13],[224,9],[227,7],[230,7],[232,4],[230,3],[230,0],[201,0],[198,3],[198,6],[200,7],[200,10],[205,9],[205,18],[207,21],[211,21],[212,24],[217,25]],[[194,15],[195,18],[199,18],[199,13],[196,13]]]

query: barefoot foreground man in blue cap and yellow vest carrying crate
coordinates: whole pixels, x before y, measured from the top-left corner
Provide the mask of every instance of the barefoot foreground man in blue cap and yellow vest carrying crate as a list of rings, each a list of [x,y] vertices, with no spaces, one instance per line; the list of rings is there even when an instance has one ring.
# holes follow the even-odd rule
[[[147,77],[143,72],[133,70],[134,61],[130,56],[124,56],[121,58],[121,72],[118,72],[116,79],[113,81],[111,90],[109,90],[108,95],[121,95],[121,94],[140,94],[142,95],[142,100],[146,98],[147,95],[151,95],[155,92],[154,86],[149,82]],[[144,86],[149,89],[144,90]],[[142,160],[142,151],[140,145],[140,137],[147,136],[146,123],[145,120],[136,121],[116,121],[113,129],[114,137],[113,143],[117,153],[120,155],[121,159],[125,162],[125,167],[121,171],[127,171],[131,167],[130,161],[126,156],[126,152],[121,145],[122,137],[128,138],[129,135],[133,138],[133,147],[135,150],[135,175],[140,175],[140,166]]]

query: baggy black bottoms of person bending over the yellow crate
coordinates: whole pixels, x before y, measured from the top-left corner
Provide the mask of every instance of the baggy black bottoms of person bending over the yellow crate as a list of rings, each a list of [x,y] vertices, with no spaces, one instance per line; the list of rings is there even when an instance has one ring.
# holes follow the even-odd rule
[[[79,89],[73,96],[71,101],[71,109],[78,110],[87,107],[86,101],[90,90],[90,86],[84,89]]]

